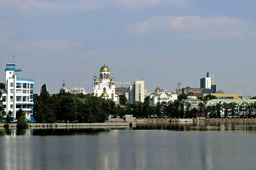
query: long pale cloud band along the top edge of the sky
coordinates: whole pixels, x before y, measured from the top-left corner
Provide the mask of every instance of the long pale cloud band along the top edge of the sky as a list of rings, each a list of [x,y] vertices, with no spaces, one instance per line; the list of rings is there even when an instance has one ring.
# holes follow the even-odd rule
[[[128,7],[145,7],[160,4],[171,4],[174,6],[186,6],[189,0],[0,0],[0,8],[12,7],[20,11],[37,9],[67,9],[78,8],[82,10],[99,9],[111,4],[118,4]],[[61,3],[60,3],[61,2]],[[70,3],[72,2],[72,3]]]

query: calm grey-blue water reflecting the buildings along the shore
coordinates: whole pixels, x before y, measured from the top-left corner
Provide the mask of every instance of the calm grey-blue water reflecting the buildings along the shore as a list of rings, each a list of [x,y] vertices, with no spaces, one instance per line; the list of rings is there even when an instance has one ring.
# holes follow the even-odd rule
[[[0,129],[2,170],[255,170],[256,124]]]

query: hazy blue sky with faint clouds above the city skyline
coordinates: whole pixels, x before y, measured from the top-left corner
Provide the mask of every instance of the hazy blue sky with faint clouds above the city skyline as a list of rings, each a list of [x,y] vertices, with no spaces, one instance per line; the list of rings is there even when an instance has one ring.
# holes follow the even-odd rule
[[[200,87],[256,96],[255,0],[0,0],[0,82],[6,63],[20,78],[92,90],[106,65],[116,81],[145,88]]]

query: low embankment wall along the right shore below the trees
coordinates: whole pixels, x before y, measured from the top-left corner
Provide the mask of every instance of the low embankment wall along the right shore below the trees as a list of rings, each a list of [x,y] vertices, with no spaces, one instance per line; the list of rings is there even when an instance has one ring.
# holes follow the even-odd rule
[[[209,118],[209,119],[199,119],[199,118],[194,118],[194,119],[171,119],[171,122],[216,122],[216,123],[223,123],[223,122],[256,122],[255,118],[244,118],[244,119],[239,119],[239,118]]]

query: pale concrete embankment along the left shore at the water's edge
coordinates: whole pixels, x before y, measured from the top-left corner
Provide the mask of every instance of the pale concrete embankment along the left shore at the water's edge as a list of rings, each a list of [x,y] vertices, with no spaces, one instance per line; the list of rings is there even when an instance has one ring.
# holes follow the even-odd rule
[[[136,123],[133,122],[122,122],[122,123],[29,123],[29,127],[67,127],[67,126],[136,126]],[[6,124],[0,124],[0,127],[3,127]],[[16,127],[16,123],[7,124],[9,127]]]

